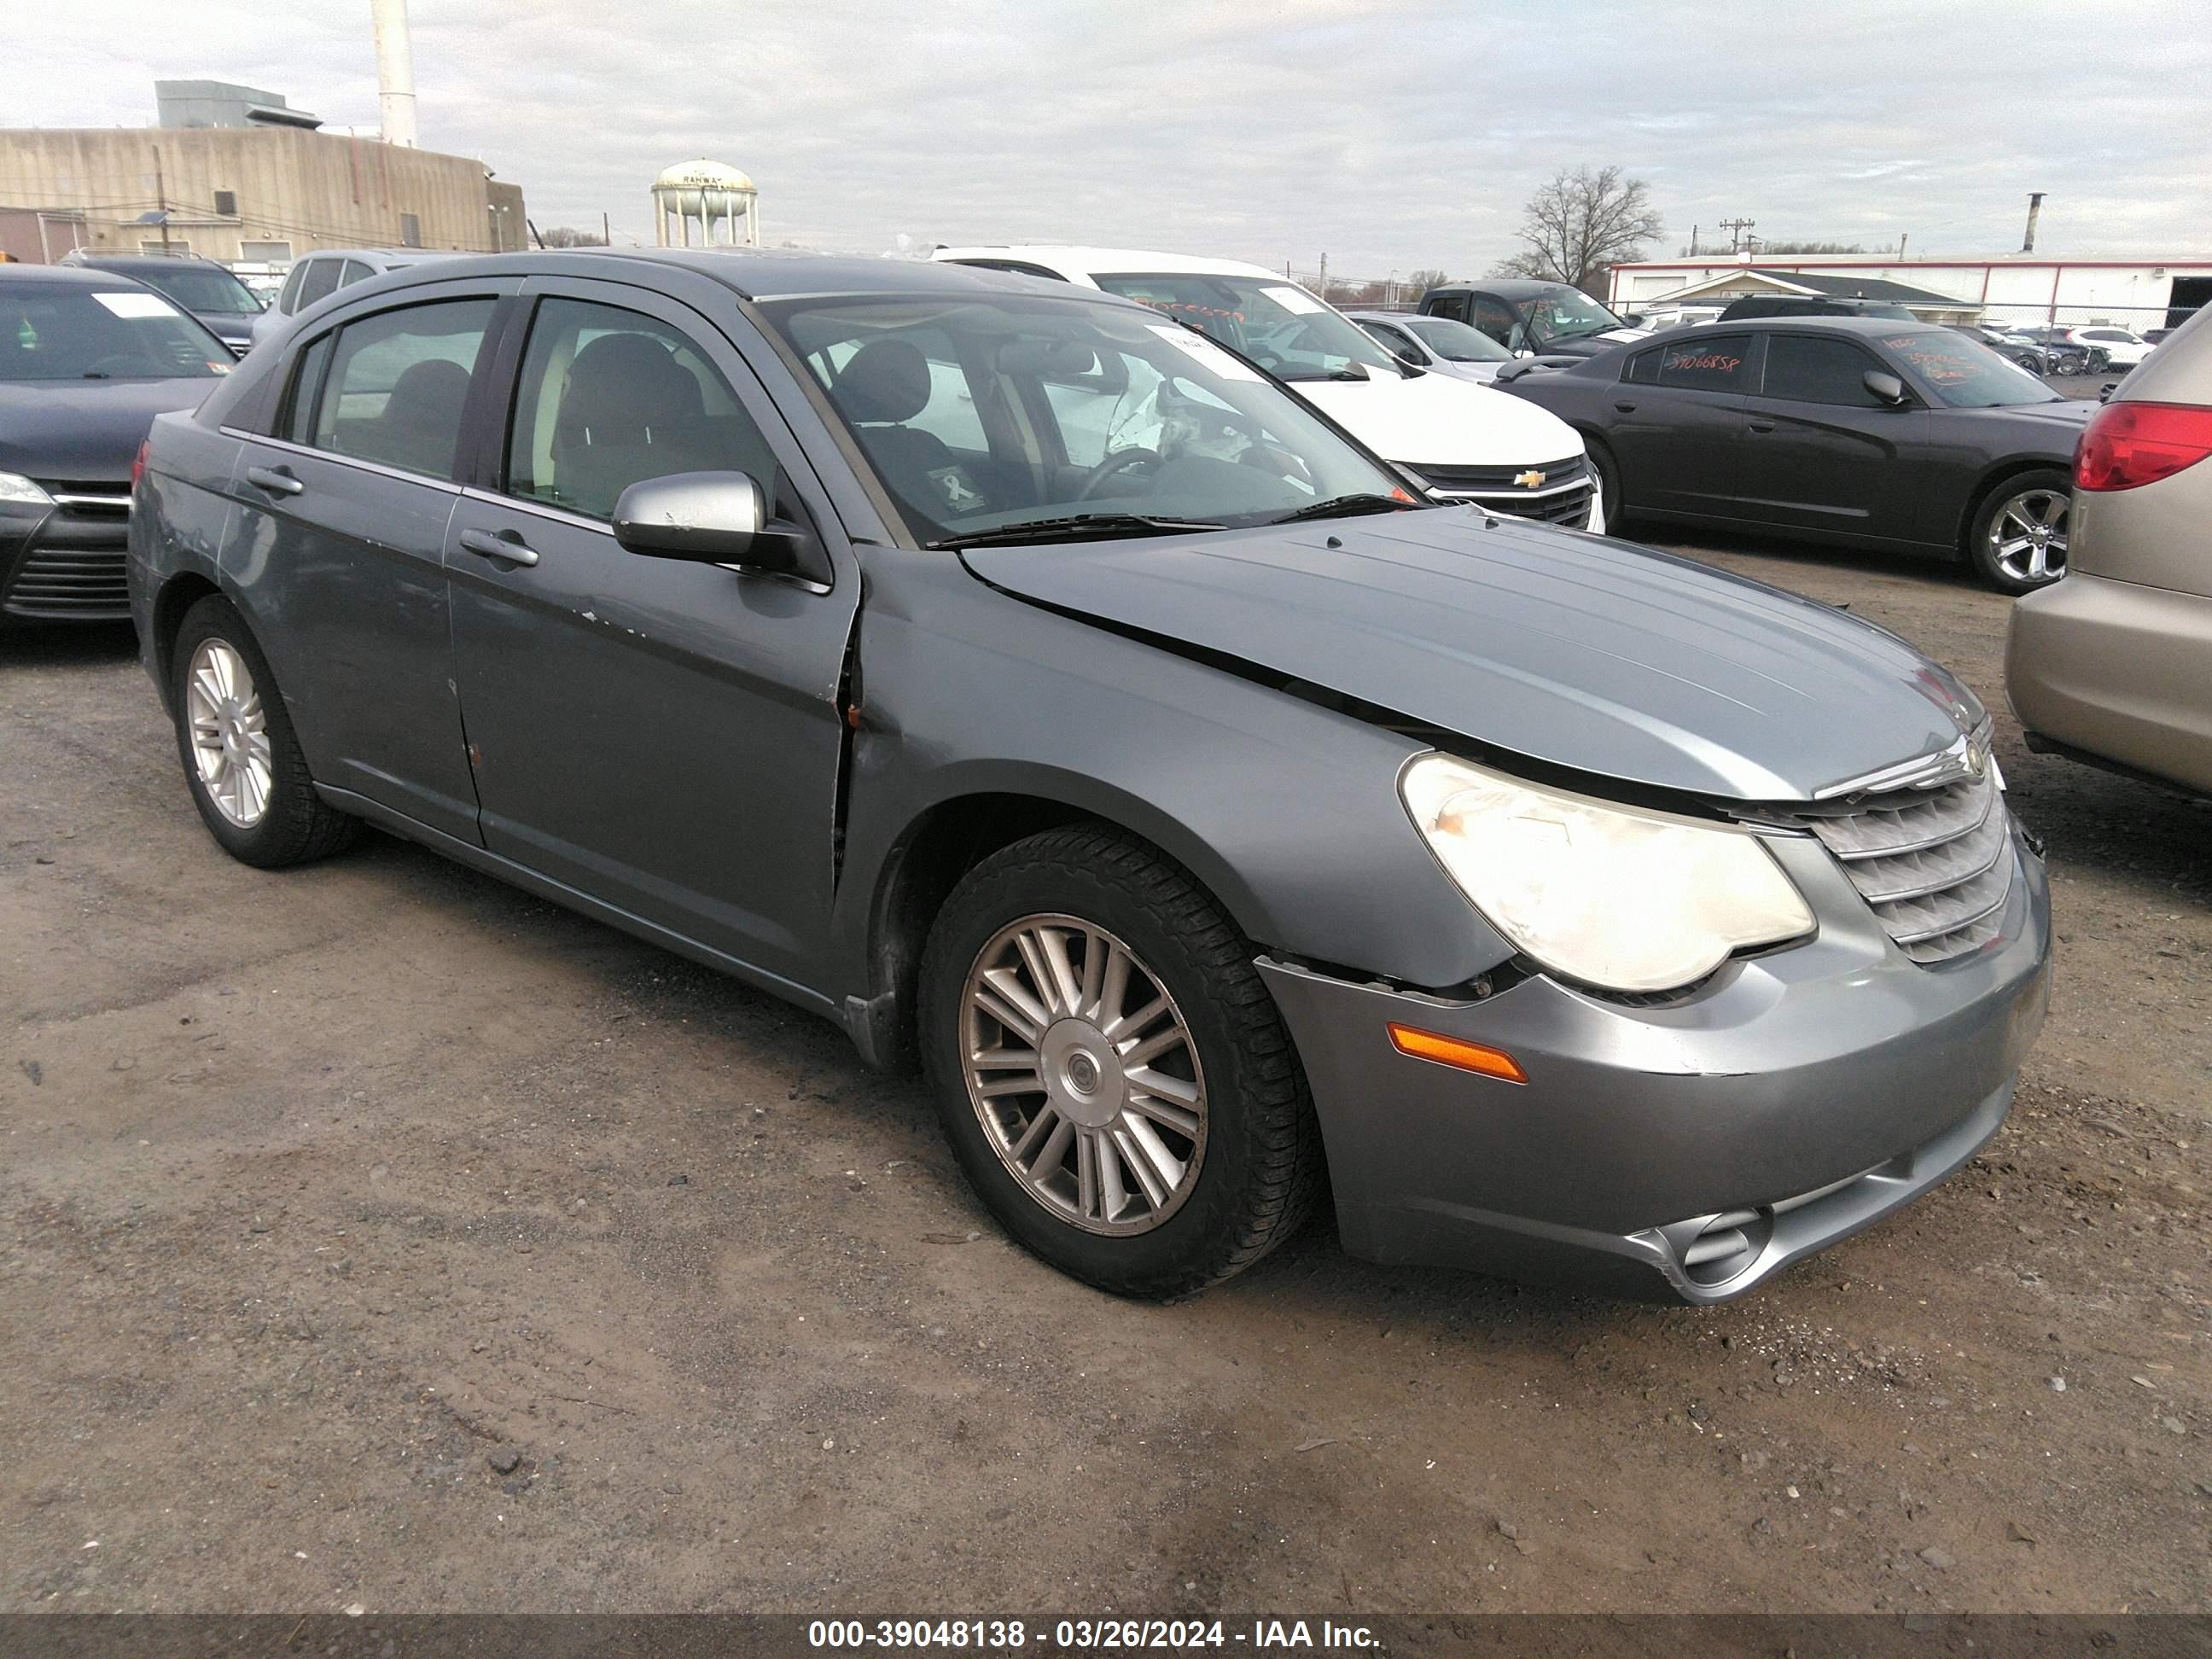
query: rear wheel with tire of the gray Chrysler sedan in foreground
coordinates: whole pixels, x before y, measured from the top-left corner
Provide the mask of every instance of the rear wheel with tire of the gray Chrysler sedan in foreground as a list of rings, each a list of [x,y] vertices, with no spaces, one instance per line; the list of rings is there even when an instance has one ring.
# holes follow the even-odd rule
[[[177,757],[223,852],[281,869],[354,838],[358,821],[314,792],[276,675],[228,599],[210,593],[184,613],[168,661]]]

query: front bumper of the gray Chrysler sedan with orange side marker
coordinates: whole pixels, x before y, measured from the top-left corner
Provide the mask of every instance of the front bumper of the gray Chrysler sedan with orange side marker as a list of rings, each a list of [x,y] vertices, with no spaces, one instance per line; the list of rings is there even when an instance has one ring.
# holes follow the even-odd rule
[[[2017,830],[2013,856],[2000,936],[1920,967],[1801,847],[1818,936],[1659,1006],[1548,975],[1451,1000],[1261,958],[1345,1248],[1710,1303],[1871,1225],[1995,1135],[2042,1026],[2048,885]],[[1528,1082],[1402,1055],[1394,1022],[1502,1048]]]

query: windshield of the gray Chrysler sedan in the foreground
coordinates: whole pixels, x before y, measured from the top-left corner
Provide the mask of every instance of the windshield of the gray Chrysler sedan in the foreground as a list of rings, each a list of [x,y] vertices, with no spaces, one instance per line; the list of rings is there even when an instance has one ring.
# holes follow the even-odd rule
[[[1411,500],[1263,374],[1135,307],[962,294],[761,312],[920,542],[1077,515],[1263,524],[1347,495]]]

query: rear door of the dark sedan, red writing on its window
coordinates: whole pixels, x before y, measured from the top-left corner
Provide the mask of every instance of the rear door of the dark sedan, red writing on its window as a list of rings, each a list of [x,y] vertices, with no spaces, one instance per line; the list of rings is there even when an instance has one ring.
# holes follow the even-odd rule
[[[1606,438],[1630,509],[1743,518],[1739,469],[1759,352],[1759,334],[1697,330],[1628,358]]]

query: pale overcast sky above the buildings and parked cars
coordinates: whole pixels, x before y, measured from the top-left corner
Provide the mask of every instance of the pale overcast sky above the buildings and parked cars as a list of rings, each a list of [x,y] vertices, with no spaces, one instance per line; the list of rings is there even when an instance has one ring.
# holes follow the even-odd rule
[[[367,0],[11,0],[0,124],[146,126],[155,77],[376,128]],[[29,20],[35,15],[35,24]],[[650,239],[712,157],[770,243],[1099,241],[1475,274],[1559,166],[1666,217],[1911,252],[2212,254],[2199,0],[414,0],[425,148],[540,228]],[[898,239],[905,237],[907,243]]]

